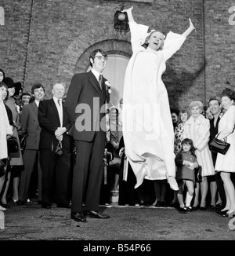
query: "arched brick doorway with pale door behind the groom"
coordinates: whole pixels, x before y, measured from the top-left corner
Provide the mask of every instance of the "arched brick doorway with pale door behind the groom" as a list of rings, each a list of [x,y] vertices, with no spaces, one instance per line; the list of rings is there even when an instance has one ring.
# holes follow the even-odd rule
[[[129,58],[132,56],[131,43],[125,40],[108,39],[97,42],[81,52],[82,45],[84,44],[74,41],[73,44],[67,48],[60,62],[58,75],[63,76],[63,80],[66,78],[67,84],[69,85],[72,75],[89,70],[89,56],[94,49],[105,50],[108,55],[108,61],[103,75],[110,81],[112,86],[110,103],[117,106],[123,93],[125,68]],[[79,53],[80,55],[78,55]]]

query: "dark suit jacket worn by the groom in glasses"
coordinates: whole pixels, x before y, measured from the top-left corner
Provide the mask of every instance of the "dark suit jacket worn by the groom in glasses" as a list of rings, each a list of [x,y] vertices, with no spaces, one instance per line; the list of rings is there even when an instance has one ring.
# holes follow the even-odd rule
[[[103,90],[92,71],[75,74],[67,93],[66,107],[74,140],[92,141],[95,131],[105,127],[105,106],[110,101],[103,78]],[[101,110],[101,111],[100,111]]]

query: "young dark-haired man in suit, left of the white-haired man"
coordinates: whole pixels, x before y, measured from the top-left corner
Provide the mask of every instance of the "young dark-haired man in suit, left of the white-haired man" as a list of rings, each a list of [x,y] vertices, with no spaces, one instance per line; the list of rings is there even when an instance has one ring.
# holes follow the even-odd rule
[[[38,123],[38,105],[45,96],[45,88],[41,83],[35,83],[31,88],[34,101],[31,104],[24,105],[20,114],[20,124],[22,130],[27,133],[24,149],[24,171],[20,174],[20,188],[18,205],[27,203],[28,189],[31,183],[31,174],[34,170],[34,164],[37,160],[38,165],[38,203],[42,202],[42,170],[39,163],[38,147],[41,127]]]

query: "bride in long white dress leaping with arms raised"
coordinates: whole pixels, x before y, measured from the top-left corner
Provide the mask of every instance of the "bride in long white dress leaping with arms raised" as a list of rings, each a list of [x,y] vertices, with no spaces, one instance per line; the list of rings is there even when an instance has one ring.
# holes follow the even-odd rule
[[[182,35],[170,31],[164,37],[160,31],[147,33],[149,27],[137,24],[132,7],[123,12],[128,15],[133,52],[125,73],[123,137],[125,153],[136,174],[135,188],[144,178],[167,178],[170,187],[178,190],[172,116],[161,75],[166,60],[195,28],[190,20],[190,27]]]

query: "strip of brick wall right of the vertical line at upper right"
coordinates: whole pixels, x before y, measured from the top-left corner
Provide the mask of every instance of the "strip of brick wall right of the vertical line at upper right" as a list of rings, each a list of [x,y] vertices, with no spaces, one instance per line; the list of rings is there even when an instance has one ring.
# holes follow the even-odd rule
[[[205,85],[209,98],[226,86],[235,87],[235,24],[229,23],[229,9],[234,6],[234,15],[235,1],[205,2]]]

